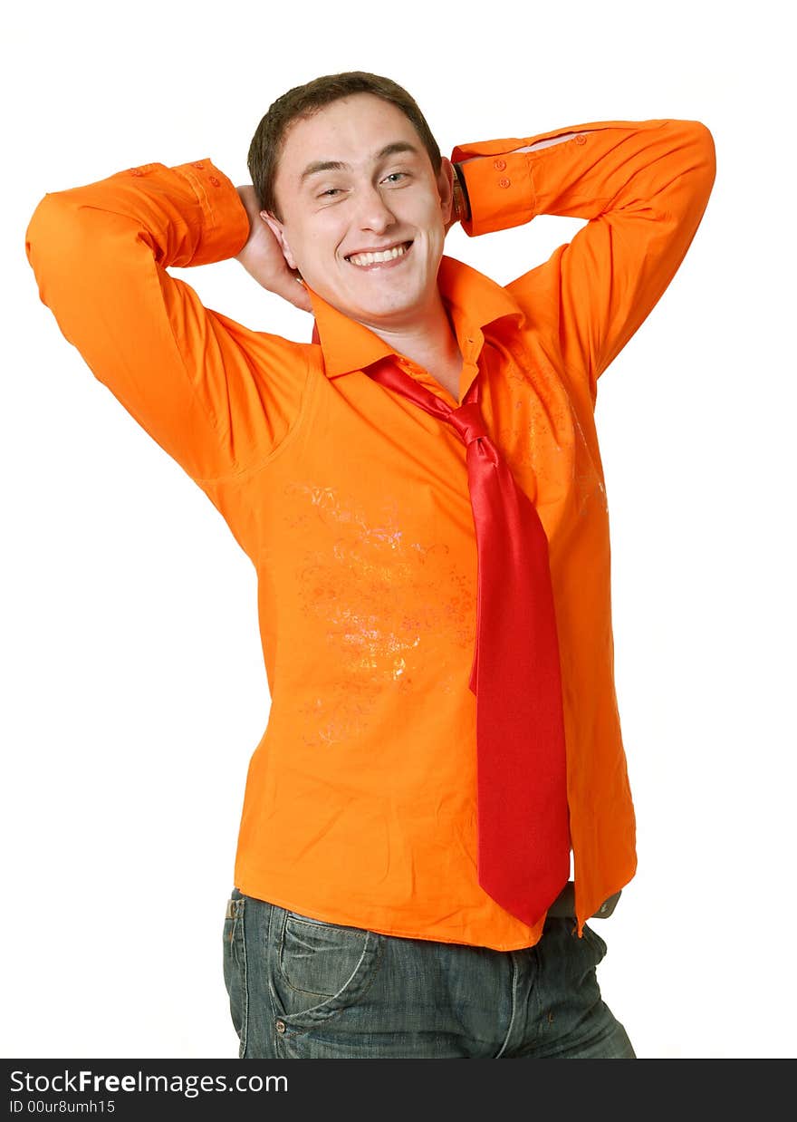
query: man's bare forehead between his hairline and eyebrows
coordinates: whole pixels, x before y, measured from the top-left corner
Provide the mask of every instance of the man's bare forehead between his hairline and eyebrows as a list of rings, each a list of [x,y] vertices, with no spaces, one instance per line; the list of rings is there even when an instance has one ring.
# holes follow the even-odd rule
[[[396,105],[371,93],[358,93],[324,105],[312,117],[293,121],[286,131],[279,171],[300,175],[312,160],[339,160],[359,166],[393,141],[407,141],[420,151],[414,126]]]

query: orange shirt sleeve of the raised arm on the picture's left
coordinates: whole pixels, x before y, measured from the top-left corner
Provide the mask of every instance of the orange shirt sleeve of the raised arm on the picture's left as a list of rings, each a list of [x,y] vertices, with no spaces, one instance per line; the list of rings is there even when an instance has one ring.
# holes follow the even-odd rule
[[[197,481],[262,461],[298,413],[300,344],[205,307],[169,266],[234,257],[237,188],[205,158],[48,193],[26,231],[41,302],[95,377]]]

